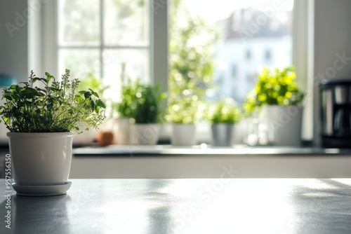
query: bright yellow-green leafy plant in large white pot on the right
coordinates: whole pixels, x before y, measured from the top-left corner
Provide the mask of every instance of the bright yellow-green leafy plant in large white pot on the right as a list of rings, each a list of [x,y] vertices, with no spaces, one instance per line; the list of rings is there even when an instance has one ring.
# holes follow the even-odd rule
[[[258,142],[300,146],[303,97],[293,66],[274,71],[263,69],[244,103],[248,116],[258,112]]]

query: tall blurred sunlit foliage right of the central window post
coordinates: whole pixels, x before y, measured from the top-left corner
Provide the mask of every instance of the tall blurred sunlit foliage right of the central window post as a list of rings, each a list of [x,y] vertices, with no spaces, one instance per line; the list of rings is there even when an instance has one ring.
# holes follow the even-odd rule
[[[216,27],[192,15],[182,0],[173,1],[170,30],[168,113],[171,123],[197,123],[213,76]]]

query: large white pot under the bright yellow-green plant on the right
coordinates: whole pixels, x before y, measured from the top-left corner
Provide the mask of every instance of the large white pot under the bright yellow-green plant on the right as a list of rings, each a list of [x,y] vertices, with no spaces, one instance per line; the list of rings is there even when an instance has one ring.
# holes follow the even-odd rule
[[[274,146],[300,146],[303,106],[265,105],[260,124],[267,125],[267,139]]]

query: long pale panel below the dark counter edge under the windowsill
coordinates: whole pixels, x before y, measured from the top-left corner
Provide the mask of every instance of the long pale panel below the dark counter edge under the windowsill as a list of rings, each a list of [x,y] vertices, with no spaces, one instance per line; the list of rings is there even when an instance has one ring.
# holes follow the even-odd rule
[[[69,175],[71,179],[218,177],[350,178],[351,156],[76,156]]]

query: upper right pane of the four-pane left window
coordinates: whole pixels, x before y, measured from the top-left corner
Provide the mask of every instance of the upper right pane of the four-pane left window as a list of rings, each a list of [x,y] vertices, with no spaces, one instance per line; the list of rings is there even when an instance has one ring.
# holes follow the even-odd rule
[[[105,43],[110,46],[148,46],[147,0],[105,0]]]

